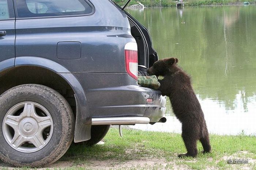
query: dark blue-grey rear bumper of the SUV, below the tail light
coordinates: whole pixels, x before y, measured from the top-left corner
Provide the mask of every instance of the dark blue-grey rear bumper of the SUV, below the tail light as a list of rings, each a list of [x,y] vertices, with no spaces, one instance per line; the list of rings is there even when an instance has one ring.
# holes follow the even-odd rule
[[[158,122],[166,110],[160,91],[136,85],[91,89],[86,96],[93,118],[140,116]]]

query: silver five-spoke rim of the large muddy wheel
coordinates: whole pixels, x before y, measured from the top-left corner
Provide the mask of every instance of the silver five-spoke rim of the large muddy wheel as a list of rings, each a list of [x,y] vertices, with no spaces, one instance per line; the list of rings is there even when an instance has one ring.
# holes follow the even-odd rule
[[[17,151],[23,153],[38,151],[48,144],[52,134],[52,116],[38,103],[16,104],[4,117],[4,138]]]

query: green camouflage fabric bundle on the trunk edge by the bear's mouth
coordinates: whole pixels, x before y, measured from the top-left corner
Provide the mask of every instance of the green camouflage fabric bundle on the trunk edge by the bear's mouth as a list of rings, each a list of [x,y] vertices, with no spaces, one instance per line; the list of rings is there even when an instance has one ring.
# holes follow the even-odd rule
[[[158,82],[157,76],[138,76],[138,84],[143,87],[149,87],[153,89],[158,89],[160,87],[160,83]]]

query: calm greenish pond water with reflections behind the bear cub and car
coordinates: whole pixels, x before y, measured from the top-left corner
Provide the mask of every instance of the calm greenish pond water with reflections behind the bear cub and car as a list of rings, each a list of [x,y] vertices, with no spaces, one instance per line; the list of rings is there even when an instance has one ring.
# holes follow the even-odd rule
[[[159,58],[177,57],[192,76],[210,133],[256,135],[256,6],[128,11],[148,28]],[[166,123],[131,127],[181,133],[166,107]]]

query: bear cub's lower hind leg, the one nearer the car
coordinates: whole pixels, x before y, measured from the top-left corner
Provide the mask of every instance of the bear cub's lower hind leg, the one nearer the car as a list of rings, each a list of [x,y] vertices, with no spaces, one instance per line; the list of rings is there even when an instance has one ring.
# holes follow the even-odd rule
[[[196,148],[196,141],[197,139],[192,134],[184,134],[182,132],[182,138],[185,143],[187,153],[178,155],[179,158],[181,157],[196,157],[197,155],[197,148]]]

